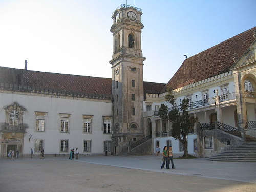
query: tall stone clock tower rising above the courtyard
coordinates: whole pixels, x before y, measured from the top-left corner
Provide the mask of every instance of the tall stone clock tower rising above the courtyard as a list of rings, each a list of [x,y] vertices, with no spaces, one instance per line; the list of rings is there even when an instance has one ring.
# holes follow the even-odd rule
[[[114,154],[129,152],[144,137],[143,61],[140,8],[121,4],[113,13],[112,97]]]

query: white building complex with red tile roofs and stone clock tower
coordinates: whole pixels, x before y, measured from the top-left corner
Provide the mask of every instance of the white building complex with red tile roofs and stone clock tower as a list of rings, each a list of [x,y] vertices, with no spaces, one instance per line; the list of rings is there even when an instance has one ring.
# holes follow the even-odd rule
[[[170,144],[183,154],[172,124],[158,116],[162,103],[172,107],[164,99],[168,88],[177,103],[189,99],[189,114],[197,119],[189,154],[209,156],[230,140],[235,145],[246,134],[256,136],[256,27],[187,58],[167,84],[144,82],[141,15],[124,4],[112,15],[112,78],[0,67],[2,157],[11,149],[61,155],[76,147],[80,154],[148,154]],[[221,139],[202,136],[217,126]]]

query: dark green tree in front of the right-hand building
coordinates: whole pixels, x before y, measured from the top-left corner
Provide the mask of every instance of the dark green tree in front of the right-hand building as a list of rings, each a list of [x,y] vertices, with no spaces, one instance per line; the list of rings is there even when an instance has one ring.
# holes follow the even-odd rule
[[[178,139],[184,147],[183,157],[188,157],[187,152],[187,135],[189,131],[193,131],[193,125],[195,123],[195,118],[189,118],[188,115],[188,99],[184,98],[180,105],[176,104],[175,97],[169,90],[168,94],[165,95],[165,100],[173,105],[168,112],[166,105],[161,104],[159,108],[158,115],[162,120],[169,120],[172,122],[172,137]]]

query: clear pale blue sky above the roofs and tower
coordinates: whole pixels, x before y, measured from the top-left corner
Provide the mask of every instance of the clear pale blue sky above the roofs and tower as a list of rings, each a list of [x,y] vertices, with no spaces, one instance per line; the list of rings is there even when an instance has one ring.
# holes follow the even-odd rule
[[[112,12],[126,0],[0,0],[0,66],[111,78]],[[127,0],[133,5],[133,0]],[[193,56],[256,24],[256,0],[135,0],[144,81],[167,83]]]

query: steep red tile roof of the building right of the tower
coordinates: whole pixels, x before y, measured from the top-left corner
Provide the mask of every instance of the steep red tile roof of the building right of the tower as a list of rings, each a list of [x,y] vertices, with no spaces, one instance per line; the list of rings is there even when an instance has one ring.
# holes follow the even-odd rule
[[[254,41],[254,30],[256,27],[184,60],[162,92],[165,92],[167,88],[173,90],[184,87],[229,71],[234,64],[233,54],[236,53],[240,58]]]

